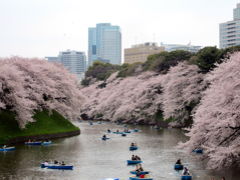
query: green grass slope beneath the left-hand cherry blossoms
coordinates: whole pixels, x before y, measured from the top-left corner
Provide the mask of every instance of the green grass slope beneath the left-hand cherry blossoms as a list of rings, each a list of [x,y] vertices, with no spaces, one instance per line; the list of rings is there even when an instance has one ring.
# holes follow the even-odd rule
[[[20,129],[14,113],[9,111],[0,112],[0,144],[21,136],[56,134],[79,130],[78,127],[56,111],[53,111],[51,115],[47,111],[38,112],[33,118],[36,122],[28,123],[24,129]]]

